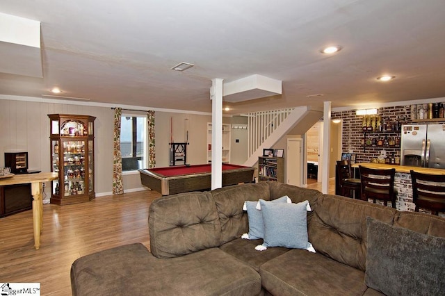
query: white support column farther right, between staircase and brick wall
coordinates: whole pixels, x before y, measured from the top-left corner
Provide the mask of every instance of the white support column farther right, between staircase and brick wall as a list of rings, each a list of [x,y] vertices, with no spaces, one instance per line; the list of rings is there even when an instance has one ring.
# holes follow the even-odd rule
[[[323,163],[321,167],[321,192],[329,191],[329,163],[331,153],[331,102],[323,102]]]

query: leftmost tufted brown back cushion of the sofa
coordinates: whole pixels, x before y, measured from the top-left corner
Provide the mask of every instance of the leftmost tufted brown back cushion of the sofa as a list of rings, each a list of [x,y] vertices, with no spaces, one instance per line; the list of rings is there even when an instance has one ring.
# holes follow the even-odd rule
[[[220,245],[215,202],[206,192],[186,192],[156,199],[149,207],[150,250],[170,258]]]

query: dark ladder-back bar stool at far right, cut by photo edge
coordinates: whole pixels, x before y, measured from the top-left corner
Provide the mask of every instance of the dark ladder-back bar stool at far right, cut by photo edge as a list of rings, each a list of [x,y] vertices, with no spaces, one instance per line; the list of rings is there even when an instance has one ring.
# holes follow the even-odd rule
[[[412,182],[412,201],[414,211],[426,208],[432,215],[445,212],[445,175],[423,174],[410,171]]]

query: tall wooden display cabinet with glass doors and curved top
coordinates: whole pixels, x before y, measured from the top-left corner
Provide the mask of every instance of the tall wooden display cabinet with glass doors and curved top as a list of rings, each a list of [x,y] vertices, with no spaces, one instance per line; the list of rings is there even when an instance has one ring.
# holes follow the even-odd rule
[[[94,121],[88,115],[50,114],[51,204],[89,202],[95,198]]]

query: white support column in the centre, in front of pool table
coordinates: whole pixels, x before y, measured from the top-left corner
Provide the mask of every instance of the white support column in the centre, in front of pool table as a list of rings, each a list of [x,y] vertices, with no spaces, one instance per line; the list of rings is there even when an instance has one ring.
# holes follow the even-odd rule
[[[212,79],[211,99],[211,189],[223,187],[223,79]]]

